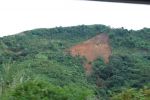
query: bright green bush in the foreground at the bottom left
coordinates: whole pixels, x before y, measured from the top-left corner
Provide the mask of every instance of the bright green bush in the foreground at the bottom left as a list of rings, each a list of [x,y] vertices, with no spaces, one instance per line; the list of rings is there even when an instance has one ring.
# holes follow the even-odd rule
[[[41,80],[26,81],[8,93],[4,100],[85,100],[93,95],[86,87],[59,87]]]

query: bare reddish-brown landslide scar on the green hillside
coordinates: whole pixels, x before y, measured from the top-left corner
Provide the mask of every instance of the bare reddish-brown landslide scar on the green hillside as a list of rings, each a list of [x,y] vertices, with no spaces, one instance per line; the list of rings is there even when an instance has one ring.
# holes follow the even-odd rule
[[[83,43],[77,44],[70,48],[72,56],[84,56],[87,59],[84,67],[87,74],[92,71],[91,62],[98,57],[102,57],[104,62],[109,62],[109,56],[111,55],[111,47],[109,45],[109,37],[107,34],[97,35]]]

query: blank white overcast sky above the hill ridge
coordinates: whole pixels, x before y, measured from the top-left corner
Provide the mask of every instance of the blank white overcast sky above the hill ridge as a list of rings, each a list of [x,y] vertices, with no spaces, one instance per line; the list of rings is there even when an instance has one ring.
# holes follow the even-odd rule
[[[0,37],[36,28],[104,24],[150,28],[150,5],[86,0],[0,0]]]

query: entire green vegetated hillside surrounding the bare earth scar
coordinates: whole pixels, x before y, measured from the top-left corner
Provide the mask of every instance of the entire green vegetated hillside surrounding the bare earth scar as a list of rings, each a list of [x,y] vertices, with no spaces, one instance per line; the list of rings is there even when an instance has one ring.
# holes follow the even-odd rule
[[[110,38],[112,55],[92,62],[71,46],[101,33]],[[34,29],[0,38],[0,100],[149,100],[150,29],[112,29],[80,25]]]

